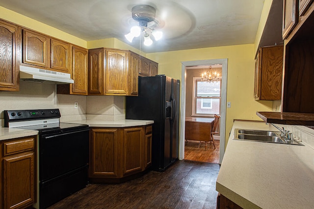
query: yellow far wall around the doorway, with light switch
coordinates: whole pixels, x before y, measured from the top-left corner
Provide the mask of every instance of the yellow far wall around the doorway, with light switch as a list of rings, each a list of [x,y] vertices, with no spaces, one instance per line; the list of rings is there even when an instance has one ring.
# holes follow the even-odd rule
[[[228,59],[226,144],[234,119],[261,120],[256,111],[272,111],[271,101],[257,102],[254,94],[254,44],[212,47],[173,52],[149,53],[147,57],[159,63],[158,74],[181,79],[182,61]]]

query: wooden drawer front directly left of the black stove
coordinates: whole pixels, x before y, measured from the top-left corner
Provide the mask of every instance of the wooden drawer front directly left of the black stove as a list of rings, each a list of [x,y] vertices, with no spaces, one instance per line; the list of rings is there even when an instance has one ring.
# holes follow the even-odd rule
[[[12,155],[15,153],[26,152],[34,149],[34,137],[27,137],[21,140],[4,142],[4,156]]]

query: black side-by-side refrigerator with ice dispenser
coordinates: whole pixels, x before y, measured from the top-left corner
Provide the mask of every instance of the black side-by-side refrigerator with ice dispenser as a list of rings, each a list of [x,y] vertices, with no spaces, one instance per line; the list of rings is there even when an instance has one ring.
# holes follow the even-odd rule
[[[179,157],[180,80],[139,77],[138,96],[127,97],[126,119],[154,120],[152,170],[162,172]]]

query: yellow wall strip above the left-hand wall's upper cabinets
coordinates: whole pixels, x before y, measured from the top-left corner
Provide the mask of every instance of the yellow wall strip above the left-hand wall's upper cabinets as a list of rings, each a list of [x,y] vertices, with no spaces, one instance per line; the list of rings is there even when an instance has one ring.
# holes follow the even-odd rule
[[[46,35],[52,36],[54,38],[58,38],[69,43],[78,45],[80,47],[87,48],[87,42],[83,39],[80,39],[76,36],[73,36],[69,33],[63,32],[59,29],[56,29],[52,26],[48,26],[46,24],[35,21],[31,18],[28,18],[19,13],[8,10],[4,7],[0,6],[0,18],[11,23],[44,33]]]

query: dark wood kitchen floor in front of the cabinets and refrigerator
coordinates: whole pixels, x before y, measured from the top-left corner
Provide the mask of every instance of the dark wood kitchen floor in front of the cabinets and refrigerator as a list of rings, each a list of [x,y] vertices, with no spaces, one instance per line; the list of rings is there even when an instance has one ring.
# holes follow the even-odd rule
[[[218,164],[178,160],[121,184],[88,184],[49,209],[215,209]]]

